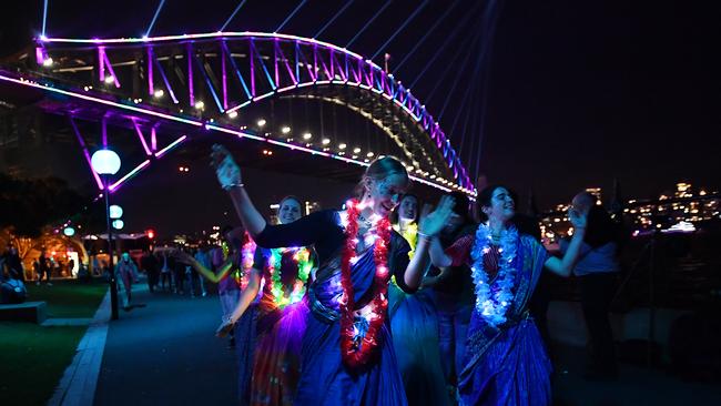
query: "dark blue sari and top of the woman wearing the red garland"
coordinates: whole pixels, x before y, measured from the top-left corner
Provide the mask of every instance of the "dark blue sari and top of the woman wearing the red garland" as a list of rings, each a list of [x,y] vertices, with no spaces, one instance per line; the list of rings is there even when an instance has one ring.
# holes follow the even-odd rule
[[[342,361],[337,298],[343,291],[341,252],[345,235],[338,213],[316,212],[291,224],[266,226],[256,242],[264,247],[314,244],[318,254],[316,281],[308,287],[311,314],[303,336],[301,380],[294,405],[406,405],[387,318],[374,355],[365,366],[353,369]],[[409,251],[408,243],[394,232],[388,268],[402,281]],[[373,247],[369,247],[352,265],[356,308],[372,300],[375,271]],[[402,288],[407,290],[405,285]]]

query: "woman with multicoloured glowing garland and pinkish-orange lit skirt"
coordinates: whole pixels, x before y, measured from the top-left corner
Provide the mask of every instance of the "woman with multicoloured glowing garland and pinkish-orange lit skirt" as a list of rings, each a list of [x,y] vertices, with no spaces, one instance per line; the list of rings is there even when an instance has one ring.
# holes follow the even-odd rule
[[[280,203],[278,220],[290,224],[301,219],[301,200],[287,196]],[[247,288],[219,332],[229,331],[257,297],[257,337],[253,355],[251,405],[292,405],[301,377],[301,341],[307,304],[304,301],[315,252],[306,247],[266,250],[257,247]],[[262,270],[262,271],[260,271]]]

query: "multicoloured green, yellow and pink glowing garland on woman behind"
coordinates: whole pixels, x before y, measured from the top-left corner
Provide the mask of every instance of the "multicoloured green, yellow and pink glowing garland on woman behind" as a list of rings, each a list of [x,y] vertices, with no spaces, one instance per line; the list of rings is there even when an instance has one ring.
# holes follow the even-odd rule
[[[293,284],[293,291],[286,295],[285,286],[281,281],[281,263],[283,255],[288,252],[294,253],[293,261],[296,264],[298,274]],[[273,302],[277,307],[283,308],[303,300],[306,282],[308,281],[311,270],[313,270],[311,253],[307,248],[273,248],[271,250],[271,256],[268,257],[266,266],[271,274],[271,293],[273,294]]]

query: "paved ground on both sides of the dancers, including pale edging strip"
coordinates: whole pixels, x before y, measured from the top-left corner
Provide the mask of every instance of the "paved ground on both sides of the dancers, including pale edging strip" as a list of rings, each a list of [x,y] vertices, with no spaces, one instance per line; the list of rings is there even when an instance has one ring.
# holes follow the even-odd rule
[[[135,303],[145,306],[121,311],[119,321],[104,324],[104,352],[98,345],[103,324],[93,321],[50,404],[90,405],[93,394],[94,404],[103,406],[237,404],[234,352],[213,336],[220,322],[217,296],[150,294],[144,285],[135,286]],[[108,302],[95,318],[106,318]],[[683,405],[691,399],[721,405],[721,385],[686,383],[627,364],[618,382],[586,382],[585,351],[555,347],[558,406]]]

